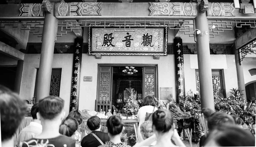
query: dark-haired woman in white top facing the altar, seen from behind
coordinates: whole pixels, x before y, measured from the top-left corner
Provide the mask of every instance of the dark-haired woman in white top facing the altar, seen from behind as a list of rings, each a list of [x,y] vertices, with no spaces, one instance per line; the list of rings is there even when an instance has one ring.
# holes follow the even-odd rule
[[[137,119],[139,122],[139,126],[138,126],[138,142],[143,141],[143,137],[140,133],[140,125],[145,122],[145,117],[146,117],[146,113],[153,113],[154,111],[157,110],[157,107],[155,107],[156,104],[154,102],[154,98],[152,96],[146,96],[143,100],[142,103],[142,107],[140,107],[138,114],[137,114]]]

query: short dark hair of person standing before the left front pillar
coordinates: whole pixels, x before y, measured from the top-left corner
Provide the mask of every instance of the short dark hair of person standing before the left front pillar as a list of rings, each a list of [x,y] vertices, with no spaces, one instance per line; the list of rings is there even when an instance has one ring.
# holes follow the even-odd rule
[[[39,113],[44,119],[54,119],[64,107],[64,100],[57,96],[47,96],[39,100]]]

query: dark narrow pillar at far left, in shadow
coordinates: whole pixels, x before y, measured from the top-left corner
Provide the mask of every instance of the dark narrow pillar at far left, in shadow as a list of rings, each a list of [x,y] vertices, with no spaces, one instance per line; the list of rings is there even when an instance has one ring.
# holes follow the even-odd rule
[[[17,62],[17,69],[16,69],[16,76],[15,76],[15,83],[14,83],[14,91],[16,93],[20,93],[20,84],[22,78],[22,71],[23,71],[23,60],[18,60]]]

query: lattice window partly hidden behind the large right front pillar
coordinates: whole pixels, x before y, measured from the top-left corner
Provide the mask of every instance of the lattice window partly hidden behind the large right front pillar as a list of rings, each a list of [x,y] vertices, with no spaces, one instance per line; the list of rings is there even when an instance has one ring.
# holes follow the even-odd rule
[[[223,89],[223,81],[221,76],[221,71],[212,71],[212,86],[213,92],[218,93]],[[196,71],[196,88],[199,89],[199,73]]]

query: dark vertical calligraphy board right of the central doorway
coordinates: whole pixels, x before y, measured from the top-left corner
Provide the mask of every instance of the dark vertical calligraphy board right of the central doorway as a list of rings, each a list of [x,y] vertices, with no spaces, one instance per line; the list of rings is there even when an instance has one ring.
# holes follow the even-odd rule
[[[179,98],[185,96],[183,48],[182,48],[182,39],[180,37],[175,37],[174,39],[174,54],[175,54],[175,75],[176,75],[176,102],[179,102]]]

